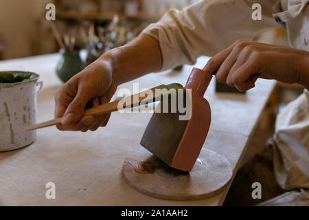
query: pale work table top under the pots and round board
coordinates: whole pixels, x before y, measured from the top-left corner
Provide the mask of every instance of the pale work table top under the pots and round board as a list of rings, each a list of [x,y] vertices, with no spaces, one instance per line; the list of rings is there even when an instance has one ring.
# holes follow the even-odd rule
[[[58,54],[0,62],[2,70],[23,70],[41,75],[38,122],[54,118],[54,92],[61,83],[54,69]],[[202,68],[207,58],[194,67]],[[133,91],[161,84],[185,85],[191,66],[182,72],[148,74],[121,85]],[[275,85],[258,80],[242,94],[216,94],[214,78],[205,98],[211,106],[211,126],[203,147],[226,157],[236,174],[247,143]],[[118,88],[118,89],[119,89]],[[117,93],[116,93],[117,94]],[[124,159],[141,148],[139,142],[151,113],[112,113],[105,128],[87,133],[39,129],[34,144],[0,153],[0,206],[220,206],[229,186],[215,197],[196,201],[169,201],[144,195],[122,177]],[[45,184],[56,184],[56,199],[46,199]]]

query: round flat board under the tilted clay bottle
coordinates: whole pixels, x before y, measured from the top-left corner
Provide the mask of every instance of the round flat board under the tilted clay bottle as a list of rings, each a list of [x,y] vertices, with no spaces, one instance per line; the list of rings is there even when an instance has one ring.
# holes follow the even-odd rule
[[[160,199],[195,200],[213,197],[232,177],[231,164],[222,155],[202,148],[193,169],[188,172],[170,168],[145,148],[126,158],[126,182],[146,195]]]

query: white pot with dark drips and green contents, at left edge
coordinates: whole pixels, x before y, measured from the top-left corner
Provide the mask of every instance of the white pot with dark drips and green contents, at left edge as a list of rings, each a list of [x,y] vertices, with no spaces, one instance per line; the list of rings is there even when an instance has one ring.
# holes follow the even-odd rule
[[[11,151],[36,141],[36,94],[43,82],[32,72],[0,72],[0,151]]]

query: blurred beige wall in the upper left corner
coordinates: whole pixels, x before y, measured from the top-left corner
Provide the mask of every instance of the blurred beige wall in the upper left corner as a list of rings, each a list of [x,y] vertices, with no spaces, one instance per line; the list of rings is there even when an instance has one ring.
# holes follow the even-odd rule
[[[32,55],[36,20],[44,18],[45,4],[45,0],[0,0],[0,33],[7,46],[5,58]]]

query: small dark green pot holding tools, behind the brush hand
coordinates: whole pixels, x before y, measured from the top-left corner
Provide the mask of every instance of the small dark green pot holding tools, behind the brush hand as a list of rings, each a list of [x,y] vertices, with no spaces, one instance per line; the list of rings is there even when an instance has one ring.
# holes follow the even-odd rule
[[[56,74],[66,83],[72,76],[84,69],[84,62],[80,58],[79,52],[67,53],[60,52],[60,58],[56,65]]]

